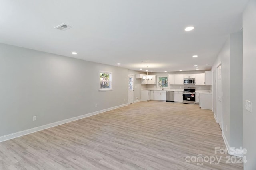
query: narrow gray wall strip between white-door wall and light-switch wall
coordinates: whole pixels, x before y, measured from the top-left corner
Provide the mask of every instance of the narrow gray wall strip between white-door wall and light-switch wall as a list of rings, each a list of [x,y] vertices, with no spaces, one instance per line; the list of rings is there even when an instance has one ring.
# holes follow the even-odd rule
[[[230,35],[230,146],[243,146],[243,33]]]

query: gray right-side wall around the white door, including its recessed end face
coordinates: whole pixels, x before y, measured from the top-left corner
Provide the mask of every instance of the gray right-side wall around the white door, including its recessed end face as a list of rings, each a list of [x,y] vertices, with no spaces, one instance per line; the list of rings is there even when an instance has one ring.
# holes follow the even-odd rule
[[[214,115],[217,117],[217,67],[222,65],[223,133],[230,147],[243,146],[242,122],[242,32],[232,33],[222,47],[213,71]]]

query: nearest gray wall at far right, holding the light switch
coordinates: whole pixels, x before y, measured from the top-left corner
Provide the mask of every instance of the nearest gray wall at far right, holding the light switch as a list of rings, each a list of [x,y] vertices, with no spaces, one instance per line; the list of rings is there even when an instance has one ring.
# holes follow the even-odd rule
[[[256,0],[250,0],[243,13],[243,106],[245,100],[252,102],[252,113],[243,107],[244,148],[248,150],[244,170],[256,167]]]

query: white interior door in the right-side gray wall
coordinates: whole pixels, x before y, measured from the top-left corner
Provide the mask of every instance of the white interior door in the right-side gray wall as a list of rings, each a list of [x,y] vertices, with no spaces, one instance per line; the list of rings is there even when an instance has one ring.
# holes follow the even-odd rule
[[[217,119],[222,130],[222,73],[221,65],[217,68]]]

